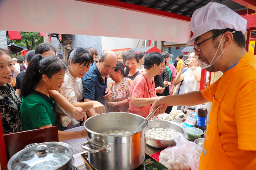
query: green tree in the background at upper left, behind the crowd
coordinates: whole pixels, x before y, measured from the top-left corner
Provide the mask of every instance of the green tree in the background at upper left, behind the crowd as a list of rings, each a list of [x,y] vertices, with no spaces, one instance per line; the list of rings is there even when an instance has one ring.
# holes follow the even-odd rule
[[[22,45],[28,48],[29,50],[34,50],[38,44],[44,42],[44,38],[40,36],[40,33],[34,32],[21,32],[20,31],[21,40],[8,40],[14,42],[17,45]]]

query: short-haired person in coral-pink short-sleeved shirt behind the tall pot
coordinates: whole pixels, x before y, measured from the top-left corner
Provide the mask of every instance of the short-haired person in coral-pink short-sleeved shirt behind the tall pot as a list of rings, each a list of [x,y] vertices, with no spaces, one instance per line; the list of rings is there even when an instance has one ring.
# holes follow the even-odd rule
[[[145,70],[133,80],[128,113],[139,114],[146,118],[152,103],[162,97],[156,97],[154,76],[161,69],[163,59],[164,57],[158,52],[149,52],[145,56]]]

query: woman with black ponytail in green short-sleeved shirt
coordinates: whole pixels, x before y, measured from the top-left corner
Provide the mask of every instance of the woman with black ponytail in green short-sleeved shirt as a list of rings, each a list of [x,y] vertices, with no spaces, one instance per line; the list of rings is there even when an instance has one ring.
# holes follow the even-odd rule
[[[66,69],[65,62],[56,56],[42,57],[36,54],[31,59],[24,76],[26,83],[22,83],[20,88],[20,96],[23,97],[20,106],[23,131],[55,126],[55,101],[48,91],[59,90]],[[59,140],[84,138],[86,134],[85,130],[59,131]]]

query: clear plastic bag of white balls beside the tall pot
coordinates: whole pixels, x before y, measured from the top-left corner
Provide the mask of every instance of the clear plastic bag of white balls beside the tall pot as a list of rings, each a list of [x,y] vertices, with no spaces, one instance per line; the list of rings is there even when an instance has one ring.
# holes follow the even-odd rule
[[[181,133],[174,137],[176,146],[162,150],[159,162],[169,170],[197,170],[202,148],[194,142],[189,142]]]

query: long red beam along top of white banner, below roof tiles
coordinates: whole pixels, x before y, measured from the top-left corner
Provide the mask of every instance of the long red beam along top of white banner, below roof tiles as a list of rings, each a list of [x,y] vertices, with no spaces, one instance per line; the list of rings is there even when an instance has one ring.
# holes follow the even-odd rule
[[[134,4],[130,4],[130,3],[115,1],[115,0],[76,0],[76,1],[93,3],[93,4],[98,4],[98,5],[106,5],[109,7],[116,7],[116,8],[122,8],[122,9],[127,9],[127,10],[133,10],[133,11],[137,11],[137,12],[143,12],[146,14],[164,16],[167,18],[188,21],[188,22],[190,22],[190,20],[191,20],[191,18],[187,17],[187,16],[174,14],[171,12],[166,12],[166,11],[157,10],[157,9],[153,9],[153,8],[143,7],[140,5],[134,5]]]

